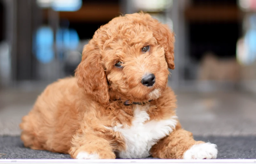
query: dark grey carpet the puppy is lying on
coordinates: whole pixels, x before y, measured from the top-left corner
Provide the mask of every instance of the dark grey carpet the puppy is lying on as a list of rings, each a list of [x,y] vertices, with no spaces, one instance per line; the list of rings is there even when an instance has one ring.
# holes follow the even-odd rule
[[[256,136],[195,137],[218,146],[219,159],[256,159]],[[69,159],[68,154],[25,148],[20,137],[0,136],[0,159]]]

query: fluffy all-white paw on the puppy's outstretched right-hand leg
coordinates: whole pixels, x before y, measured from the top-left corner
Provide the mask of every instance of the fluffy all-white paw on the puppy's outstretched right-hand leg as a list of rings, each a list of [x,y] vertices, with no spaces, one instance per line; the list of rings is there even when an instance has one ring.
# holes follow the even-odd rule
[[[217,146],[210,142],[193,145],[184,153],[184,159],[215,159],[217,158]]]

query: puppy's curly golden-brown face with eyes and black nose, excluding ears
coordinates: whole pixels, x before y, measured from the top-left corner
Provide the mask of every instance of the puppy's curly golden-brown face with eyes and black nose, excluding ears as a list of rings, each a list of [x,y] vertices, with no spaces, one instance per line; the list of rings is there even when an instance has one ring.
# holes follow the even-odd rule
[[[113,30],[113,32],[112,32]],[[166,87],[168,66],[164,48],[146,25],[126,24],[103,48],[102,60],[116,98],[129,101],[157,99]]]

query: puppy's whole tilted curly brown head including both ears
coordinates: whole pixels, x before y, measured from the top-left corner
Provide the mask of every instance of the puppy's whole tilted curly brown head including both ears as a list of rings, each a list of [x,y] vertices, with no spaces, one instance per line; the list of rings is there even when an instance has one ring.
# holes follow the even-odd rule
[[[149,101],[165,89],[174,69],[174,34],[149,14],[135,13],[101,26],[85,45],[78,85],[94,100]]]

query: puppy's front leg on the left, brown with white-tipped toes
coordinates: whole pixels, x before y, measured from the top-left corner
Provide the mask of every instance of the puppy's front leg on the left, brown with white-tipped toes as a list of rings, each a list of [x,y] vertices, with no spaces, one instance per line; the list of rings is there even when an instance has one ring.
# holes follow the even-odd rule
[[[96,136],[92,130],[77,130],[72,138],[69,154],[76,159],[115,159],[110,143]]]

